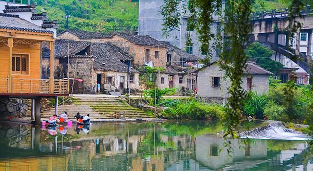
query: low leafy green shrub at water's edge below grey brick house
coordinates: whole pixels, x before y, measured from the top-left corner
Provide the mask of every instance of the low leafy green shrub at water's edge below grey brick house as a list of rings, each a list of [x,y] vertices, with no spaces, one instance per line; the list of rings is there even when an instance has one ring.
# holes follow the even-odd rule
[[[224,115],[224,107],[207,105],[195,100],[180,101],[175,107],[163,111],[163,116],[169,119],[206,119],[217,120]]]

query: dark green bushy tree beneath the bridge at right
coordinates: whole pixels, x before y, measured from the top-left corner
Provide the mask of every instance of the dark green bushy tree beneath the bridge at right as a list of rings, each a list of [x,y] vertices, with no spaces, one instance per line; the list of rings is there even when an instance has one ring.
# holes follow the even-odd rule
[[[246,54],[249,56],[250,60],[255,61],[255,63],[268,71],[276,74],[279,69],[283,68],[283,64],[271,60],[273,51],[268,47],[265,47],[262,43],[254,42],[250,44],[246,49]]]

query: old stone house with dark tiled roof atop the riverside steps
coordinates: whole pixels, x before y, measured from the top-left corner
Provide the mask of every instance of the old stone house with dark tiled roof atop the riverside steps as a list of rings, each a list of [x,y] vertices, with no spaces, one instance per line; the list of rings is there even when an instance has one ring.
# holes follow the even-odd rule
[[[69,55],[69,62],[68,56]],[[49,51],[43,47],[42,77],[49,75]],[[82,41],[55,41],[55,78],[75,79],[73,93],[95,93],[96,85],[101,90],[121,93],[127,88],[128,61],[132,57],[111,43],[90,43]],[[130,68],[129,87],[138,89],[138,72]],[[79,82],[82,81],[82,82]],[[71,84],[70,84],[71,85]]]

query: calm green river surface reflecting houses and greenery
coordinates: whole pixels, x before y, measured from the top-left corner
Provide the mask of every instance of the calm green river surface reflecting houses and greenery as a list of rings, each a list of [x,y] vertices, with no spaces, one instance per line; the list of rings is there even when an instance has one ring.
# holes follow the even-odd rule
[[[313,171],[306,141],[233,139],[230,157],[222,129],[200,121],[55,129],[1,123],[0,171]]]

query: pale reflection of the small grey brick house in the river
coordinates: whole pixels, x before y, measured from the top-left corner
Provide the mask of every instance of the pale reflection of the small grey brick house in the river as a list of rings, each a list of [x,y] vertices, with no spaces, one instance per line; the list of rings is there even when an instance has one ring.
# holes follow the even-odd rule
[[[210,135],[196,137],[196,158],[197,161],[206,167],[220,168],[225,164],[238,160],[264,159],[267,157],[267,141],[255,141],[252,143],[240,144],[242,140],[232,139],[232,157],[227,154],[224,147],[224,139]],[[243,146],[242,148],[239,148]],[[251,163],[255,163],[253,160]]]

